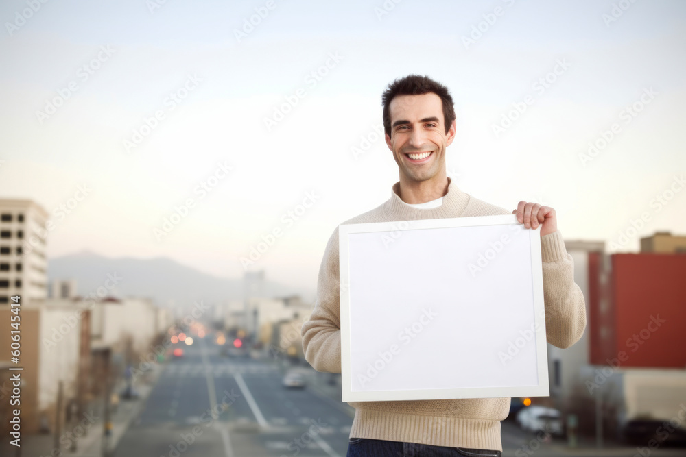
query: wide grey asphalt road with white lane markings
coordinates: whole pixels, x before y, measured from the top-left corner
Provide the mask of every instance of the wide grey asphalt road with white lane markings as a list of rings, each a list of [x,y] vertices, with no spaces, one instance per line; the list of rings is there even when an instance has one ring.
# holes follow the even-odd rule
[[[200,340],[167,364],[115,456],[345,456],[353,419],[343,404],[281,378],[274,363]]]

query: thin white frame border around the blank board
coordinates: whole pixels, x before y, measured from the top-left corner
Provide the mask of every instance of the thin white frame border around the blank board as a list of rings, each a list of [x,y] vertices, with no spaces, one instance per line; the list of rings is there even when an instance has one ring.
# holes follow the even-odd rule
[[[449,388],[377,388],[370,390],[353,389],[353,366],[351,354],[351,309],[355,307],[355,302],[351,302],[351,292],[355,293],[355,284],[351,284],[351,259],[349,248],[351,246],[350,237],[355,234],[379,233],[379,236],[390,236],[386,240],[394,240],[403,235],[407,230],[442,230],[453,227],[473,227],[479,230],[480,227],[490,225],[508,225],[510,230],[527,230],[529,236],[513,237],[512,243],[519,240],[528,240],[530,249],[531,271],[525,271],[526,277],[531,280],[533,319],[532,330],[534,337],[529,340],[535,343],[535,369],[536,373],[529,375],[536,378],[536,383],[531,385],[509,385],[507,380],[503,380],[499,386],[477,386],[477,387],[449,387]],[[517,226],[517,227],[515,227]],[[384,234],[383,232],[387,232]],[[436,234],[437,232],[431,232]],[[472,232],[475,233],[475,232]],[[447,234],[447,232],[446,232]],[[359,238],[358,238],[359,239]],[[452,240],[453,238],[451,238]],[[469,243],[465,240],[464,243]],[[520,242],[523,243],[523,242]],[[341,372],[342,372],[342,399],[344,402],[371,402],[389,400],[421,400],[421,399],[460,399],[460,398],[488,398],[488,397],[539,397],[549,395],[548,369],[547,369],[547,342],[545,336],[545,308],[543,304],[543,273],[541,261],[541,240],[540,225],[534,229],[524,229],[523,225],[517,223],[517,219],[512,215],[502,216],[483,216],[483,217],[459,217],[452,219],[423,219],[418,221],[393,221],[379,223],[362,223],[339,226],[339,249],[340,249],[340,328],[341,328]],[[394,247],[394,249],[396,249]],[[374,259],[368,259],[373,262]],[[526,259],[524,259],[526,260]],[[359,262],[359,261],[357,261]],[[410,260],[411,262],[411,260]],[[353,265],[355,267],[355,265]],[[402,271],[397,272],[399,274]],[[406,271],[404,273],[407,273]],[[530,274],[528,274],[530,273]],[[484,269],[488,275],[488,269]],[[495,284],[494,284],[495,285]],[[362,288],[362,287],[360,287]],[[506,306],[506,304],[493,304],[493,306]],[[512,328],[508,328],[512,331]],[[488,328],[488,332],[498,334],[499,328]],[[512,342],[512,340],[510,340]],[[517,340],[519,344],[519,340]],[[468,351],[469,349],[464,349]],[[497,362],[497,360],[486,360]],[[412,369],[410,362],[401,361],[408,369]],[[533,367],[531,367],[533,369]],[[357,367],[357,373],[359,373]],[[480,369],[480,367],[466,367],[466,369]]]

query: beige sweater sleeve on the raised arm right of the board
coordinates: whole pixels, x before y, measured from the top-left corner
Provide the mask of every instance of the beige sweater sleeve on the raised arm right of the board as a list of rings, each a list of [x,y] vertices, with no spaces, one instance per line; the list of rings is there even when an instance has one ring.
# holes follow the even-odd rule
[[[586,303],[574,282],[574,262],[560,231],[541,236],[543,301],[548,343],[566,349],[581,338],[586,328]]]

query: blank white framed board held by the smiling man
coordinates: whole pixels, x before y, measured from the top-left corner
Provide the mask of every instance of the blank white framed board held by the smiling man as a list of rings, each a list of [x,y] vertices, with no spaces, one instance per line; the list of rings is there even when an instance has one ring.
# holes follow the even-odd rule
[[[546,396],[540,227],[340,225],[345,402]]]

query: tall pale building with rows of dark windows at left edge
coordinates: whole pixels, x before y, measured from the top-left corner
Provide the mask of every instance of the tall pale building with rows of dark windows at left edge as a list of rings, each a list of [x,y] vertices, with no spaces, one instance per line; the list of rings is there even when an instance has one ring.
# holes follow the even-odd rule
[[[31,200],[0,199],[0,306],[47,298],[45,242],[48,213]]]

